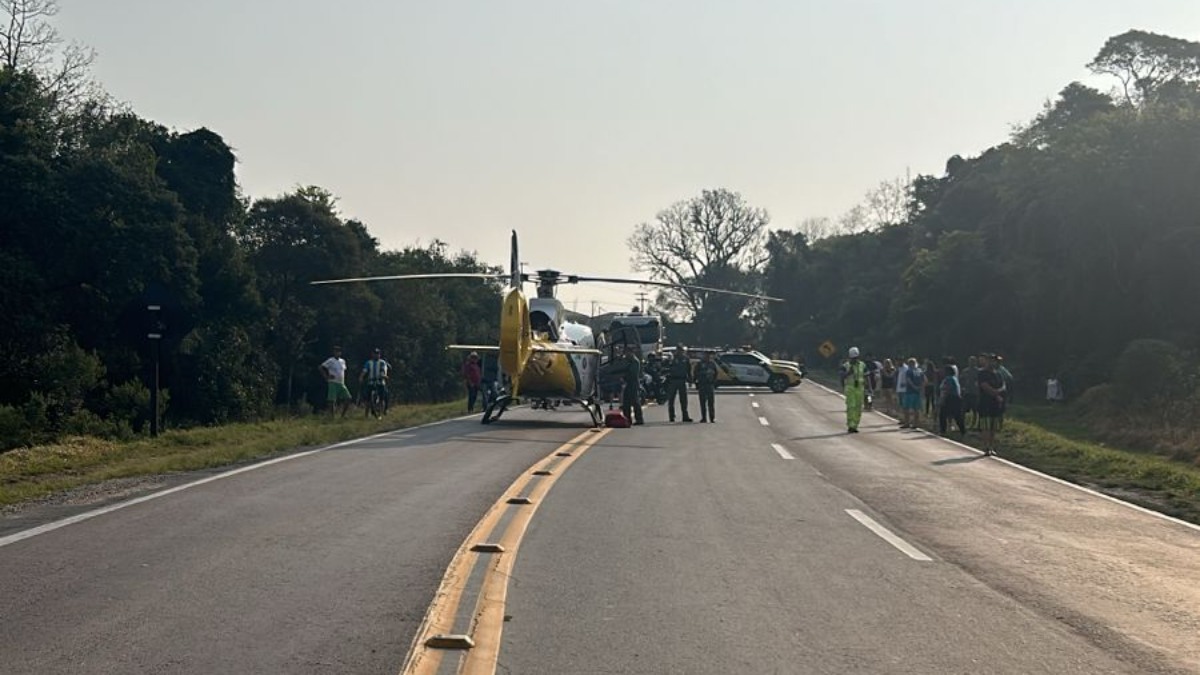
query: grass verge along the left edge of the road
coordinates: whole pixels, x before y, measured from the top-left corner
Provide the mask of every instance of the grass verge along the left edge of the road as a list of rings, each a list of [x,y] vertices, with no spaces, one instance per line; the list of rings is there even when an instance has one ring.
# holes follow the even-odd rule
[[[307,416],[164,431],[157,438],[71,437],[0,454],[0,506],[115,478],[179,473],[268,459],[463,414],[466,401],[394,406],[383,419],[352,408],[346,418]]]

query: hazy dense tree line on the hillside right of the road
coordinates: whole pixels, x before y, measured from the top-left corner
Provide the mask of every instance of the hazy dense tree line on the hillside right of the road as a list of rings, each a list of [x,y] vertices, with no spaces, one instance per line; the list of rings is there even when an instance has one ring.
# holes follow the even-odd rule
[[[1129,31],[1090,67],[1116,94],[1067,85],[1008,142],[917,177],[895,222],[772,233],[764,288],[787,303],[767,344],[998,351],[1076,393],[1135,340],[1200,348],[1200,44]]]

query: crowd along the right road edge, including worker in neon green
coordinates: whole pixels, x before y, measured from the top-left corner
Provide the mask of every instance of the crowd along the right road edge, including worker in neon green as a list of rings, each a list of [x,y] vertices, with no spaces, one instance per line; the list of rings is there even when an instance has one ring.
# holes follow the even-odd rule
[[[862,378],[862,384],[856,382]],[[852,348],[842,365],[842,384],[847,401],[847,430],[858,430],[860,411],[872,410],[875,401],[900,418],[901,429],[916,429],[922,416],[944,436],[952,424],[961,435],[968,424],[983,436],[984,452],[995,454],[996,432],[1004,419],[1004,408],[1013,400],[1013,374],[1003,357],[980,353],[967,357],[961,369],[958,359],[940,362],[916,357],[876,360],[871,354],[858,359]],[[858,408],[859,412],[852,412]]]

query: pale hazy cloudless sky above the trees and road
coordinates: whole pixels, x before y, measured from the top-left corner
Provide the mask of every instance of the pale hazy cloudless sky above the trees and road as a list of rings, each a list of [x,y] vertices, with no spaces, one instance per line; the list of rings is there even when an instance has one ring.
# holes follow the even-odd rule
[[[442,239],[628,275],[625,240],[702,189],[772,227],[1006,139],[1132,28],[1200,0],[60,0],[134,110],[206,126],[250,197],[320,185],[385,249]],[[636,287],[568,291],[616,310]],[[581,306],[580,309],[584,309]]]

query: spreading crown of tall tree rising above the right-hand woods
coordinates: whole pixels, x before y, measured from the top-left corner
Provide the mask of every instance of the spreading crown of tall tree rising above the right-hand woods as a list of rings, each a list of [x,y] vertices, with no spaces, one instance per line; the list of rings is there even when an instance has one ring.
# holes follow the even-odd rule
[[[1087,67],[1116,77],[1126,102],[1135,106],[1152,98],[1168,83],[1200,79],[1200,43],[1129,30],[1110,37]]]

